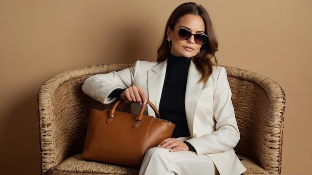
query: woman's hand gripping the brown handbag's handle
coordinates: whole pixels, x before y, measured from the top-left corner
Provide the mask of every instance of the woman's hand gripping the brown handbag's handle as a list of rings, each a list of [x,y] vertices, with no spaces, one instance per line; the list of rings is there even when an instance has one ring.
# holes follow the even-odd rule
[[[147,101],[147,97],[141,87],[132,86],[128,87],[125,91],[120,94],[120,98],[123,100],[128,100],[136,103],[142,103]]]

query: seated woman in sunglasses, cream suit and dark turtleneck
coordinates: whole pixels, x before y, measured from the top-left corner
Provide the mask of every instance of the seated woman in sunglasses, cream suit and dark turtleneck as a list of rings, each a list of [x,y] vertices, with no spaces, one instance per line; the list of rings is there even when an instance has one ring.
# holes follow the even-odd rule
[[[207,11],[183,3],[170,15],[157,62],[137,61],[119,72],[90,77],[83,91],[102,103],[152,101],[176,126],[172,138],[146,154],[140,175],[240,175],[234,147],[239,130],[226,71],[216,66],[218,42]],[[214,58],[215,63],[211,61]],[[155,115],[149,107],[149,115]]]

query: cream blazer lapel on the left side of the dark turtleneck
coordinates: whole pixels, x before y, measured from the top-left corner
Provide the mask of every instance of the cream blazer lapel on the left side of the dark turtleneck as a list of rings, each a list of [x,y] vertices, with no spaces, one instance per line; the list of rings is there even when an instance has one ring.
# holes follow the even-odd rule
[[[160,62],[153,69],[148,71],[148,93],[149,100],[159,109],[159,102],[166,74],[167,60]],[[154,116],[154,111],[148,107],[149,115]]]

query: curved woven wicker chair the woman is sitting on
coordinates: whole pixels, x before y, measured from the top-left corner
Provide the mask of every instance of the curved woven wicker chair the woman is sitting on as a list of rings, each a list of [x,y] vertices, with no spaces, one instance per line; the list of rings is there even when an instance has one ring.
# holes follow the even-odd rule
[[[91,108],[110,108],[85,95],[94,74],[132,64],[88,66],[58,74],[40,87],[38,115],[42,175],[137,175],[139,170],[81,159]],[[280,174],[285,94],[259,74],[226,67],[241,140],[235,151],[248,174]],[[129,110],[129,105],[126,110]]]

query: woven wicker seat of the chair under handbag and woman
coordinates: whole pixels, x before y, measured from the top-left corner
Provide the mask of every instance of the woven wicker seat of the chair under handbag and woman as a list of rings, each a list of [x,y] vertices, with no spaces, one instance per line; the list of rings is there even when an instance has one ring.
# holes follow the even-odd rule
[[[244,175],[269,174],[250,159],[239,156],[242,164],[247,168]],[[138,175],[139,169],[127,168],[100,162],[86,161],[81,154],[64,160],[60,165],[48,171],[48,175]]]

